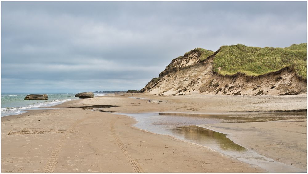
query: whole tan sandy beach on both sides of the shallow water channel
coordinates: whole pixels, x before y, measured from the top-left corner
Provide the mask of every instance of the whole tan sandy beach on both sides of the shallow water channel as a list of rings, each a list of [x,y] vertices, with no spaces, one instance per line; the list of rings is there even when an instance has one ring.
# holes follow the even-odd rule
[[[80,108],[91,105],[101,108]],[[268,172],[204,146],[140,130],[134,126],[133,118],[114,113],[223,114],[302,111],[306,106],[306,94],[125,93],[69,101],[1,118],[1,172]],[[293,166],[294,172],[307,169],[306,118],[199,126],[226,134],[236,144]]]

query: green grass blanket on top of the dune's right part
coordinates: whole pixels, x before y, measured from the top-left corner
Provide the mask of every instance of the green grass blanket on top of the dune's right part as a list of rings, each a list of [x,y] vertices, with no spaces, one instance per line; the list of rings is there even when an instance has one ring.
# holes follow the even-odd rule
[[[258,76],[284,67],[293,67],[299,77],[307,79],[307,43],[286,48],[222,46],[213,60],[214,71],[222,75],[242,72]]]

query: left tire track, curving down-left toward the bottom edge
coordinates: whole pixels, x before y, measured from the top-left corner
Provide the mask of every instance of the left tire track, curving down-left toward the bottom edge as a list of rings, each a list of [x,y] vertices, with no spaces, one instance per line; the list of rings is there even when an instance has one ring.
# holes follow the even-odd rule
[[[64,135],[61,137],[61,139],[58,141],[58,143],[56,144],[54,150],[51,153],[51,157],[49,158],[49,160],[47,161],[45,167],[43,168],[43,173],[51,173],[53,172],[54,168],[55,168],[55,164],[57,163],[57,160],[59,158],[59,153],[62,149],[62,145],[64,140],[66,139],[67,135],[69,133],[71,133],[71,131],[73,130],[73,128],[75,126],[77,126],[79,123],[83,122],[84,120],[89,119],[88,118],[84,118],[84,119],[80,119],[78,121],[76,121],[75,123],[73,123],[71,125],[70,128],[68,128],[65,132]]]

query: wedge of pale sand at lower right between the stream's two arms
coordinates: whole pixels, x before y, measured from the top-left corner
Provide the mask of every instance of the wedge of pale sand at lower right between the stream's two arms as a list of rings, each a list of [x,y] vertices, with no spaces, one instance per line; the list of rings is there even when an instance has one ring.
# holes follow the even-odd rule
[[[234,143],[275,161],[307,171],[307,119],[199,126],[226,134]]]

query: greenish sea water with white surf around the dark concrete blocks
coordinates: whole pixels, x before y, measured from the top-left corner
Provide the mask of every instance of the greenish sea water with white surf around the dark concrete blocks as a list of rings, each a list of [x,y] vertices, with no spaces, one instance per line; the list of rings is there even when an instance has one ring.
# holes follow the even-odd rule
[[[47,94],[48,100],[23,100],[28,94],[1,94],[1,117],[17,115],[27,109],[54,106],[69,100],[75,100],[75,93]],[[102,96],[102,93],[94,93],[94,96]]]

